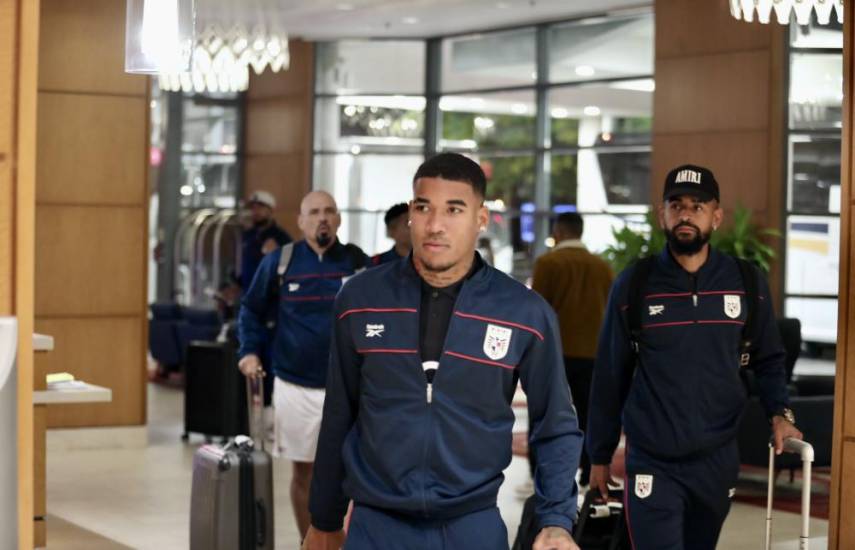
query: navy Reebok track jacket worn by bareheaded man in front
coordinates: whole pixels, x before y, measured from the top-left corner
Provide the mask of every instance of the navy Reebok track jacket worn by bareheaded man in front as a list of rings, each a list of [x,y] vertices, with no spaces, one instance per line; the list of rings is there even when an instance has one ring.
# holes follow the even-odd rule
[[[537,457],[538,521],[570,530],[582,432],[552,309],[484,265],[463,283],[428,394],[420,301],[410,258],[357,275],[336,299],[312,524],[340,529],[346,496],[428,519],[495,506],[511,462],[511,401],[520,380]]]

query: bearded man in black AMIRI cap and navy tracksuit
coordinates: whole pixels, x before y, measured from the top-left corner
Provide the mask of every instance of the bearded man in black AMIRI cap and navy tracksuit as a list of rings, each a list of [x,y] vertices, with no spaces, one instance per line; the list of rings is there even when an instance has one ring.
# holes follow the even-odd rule
[[[586,440],[591,487],[607,494],[623,425],[633,547],[713,549],[739,472],[736,433],[746,400],[740,342],[748,303],[736,261],[709,245],[723,216],[712,172],[675,168],[663,198],[659,221],[668,246],[642,287],[641,331],[632,337],[629,330],[629,268],[612,287],[600,332]],[[759,276],[756,286],[751,366],[780,453],[785,438],[801,433],[787,408],[769,289]]]

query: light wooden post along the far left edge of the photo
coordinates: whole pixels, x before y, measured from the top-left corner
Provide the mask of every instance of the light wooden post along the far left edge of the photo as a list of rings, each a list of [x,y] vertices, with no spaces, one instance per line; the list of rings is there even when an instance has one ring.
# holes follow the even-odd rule
[[[0,315],[18,320],[17,523],[33,548],[33,224],[35,209],[38,0],[0,0]],[[9,518],[7,518],[9,519]],[[4,523],[8,525],[8,523]],[[3,540],[7,540],[4,538]]]

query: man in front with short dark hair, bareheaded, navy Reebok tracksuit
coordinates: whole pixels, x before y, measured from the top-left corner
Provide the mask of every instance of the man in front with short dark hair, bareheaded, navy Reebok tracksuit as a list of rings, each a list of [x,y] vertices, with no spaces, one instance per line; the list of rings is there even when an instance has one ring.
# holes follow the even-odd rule
[[[410,203],[413,253],[354,277],[335,305],[332,356],[303,548],[498,550],[496,494],[511,461],[511,400],[528,394],[536,550],[577,550],[581,432],[554,313],[475,253],[481,168],[426,161]]]

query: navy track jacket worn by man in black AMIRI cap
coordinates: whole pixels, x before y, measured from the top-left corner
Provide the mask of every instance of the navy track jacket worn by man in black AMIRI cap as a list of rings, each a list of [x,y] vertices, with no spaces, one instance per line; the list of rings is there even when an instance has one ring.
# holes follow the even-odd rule
[[[627,324],[632,267],[612,286],[600,332],[587,443],[594,464],[609,464],[620,438],[662,459],[712,451],[739,429],[746,390],[739,343],[747,304],[736,261],[710,249],[693,277],[666,248],[642,294],[638,365]],[[758,275],[751,368],[767,413],[787,406],[785,353],[769,288]],[[634,375],[634,377],[633,377]]]

